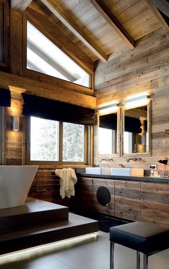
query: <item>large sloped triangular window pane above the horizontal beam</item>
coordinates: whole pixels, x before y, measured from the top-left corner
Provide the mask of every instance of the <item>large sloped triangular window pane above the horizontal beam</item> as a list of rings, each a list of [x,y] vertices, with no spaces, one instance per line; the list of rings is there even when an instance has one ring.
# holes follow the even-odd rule
[[[89,75],[28,21],[27,68],[89,87]]]

